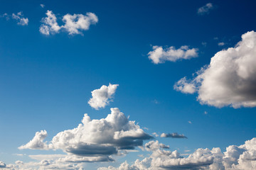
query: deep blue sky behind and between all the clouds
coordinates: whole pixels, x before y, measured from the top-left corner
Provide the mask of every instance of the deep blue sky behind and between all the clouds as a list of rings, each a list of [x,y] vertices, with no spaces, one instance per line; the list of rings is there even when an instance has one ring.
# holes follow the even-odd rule
[[[209,3],[210,7],[207,7]],[[209,66],[217,52],[237,47],[235,45],[240,41],[246,44],[250,37],[255,37],[254,32],[246,34],[256,27],[255,5],[254,1],[1,1],[0,161],[8,168],[17,160],[36,162],[29,155],[69,153],[57,147],[57,150],[18,147],[26,145],[41,130],[47,131],[46,141],[50,143],[58,132],[77,128],[84,113],[99,120],[110,114],[110,108],[119,108],[129,120],[138,123],[144,135],[154,137],[144,140],[142,136],[137,140],[143,140],[144,144],[158,140],[169,145],[171,152],[193,154],[198,148],[213,147],[220,147],[225,152],[230,145],[240,146],[252,140],[256,132],[255,105],[242,103],[233,107],[233,104],[236,97],[243,98],[238,99],[239,102],[245,102],[247,98],[256,102],[255,55],[250,52],[238,54],[238,58],[250,57],[246,60],[249,62],[238,64],[238,67],[252,69],[248,75],[238,74],[245,78],[240,82],[245,89],[241,89],[237,96],[231,95],[230,104],[213,96],[205,96],[201,101],[197,99],[198,95],[203,96],[203,85],[200,84],[208,80],[207,76],[214,77],[208,72],[218,66],[210,65],[209,69],[204,69],[205,74],[199,73],[204,77],[203,81],[194,84],[193,79],[196,77],[194,73]],[[201,7],[206,11],[198,13]],[[63,26],[49,35],[39,31],[43,24],[47,25],[43,22],[47,11],[52,11],[58,26]],[[94,13],[98,21],[90,18],[86,21],[90,24],[88,28],[78,28],[79,33],[69,32],[62,21],[63,16],[70,13],[89,18],[88,12]],[[12,13],[28,18],[28,23],[18,23],[20,18],[16,19]],[[245,34],[248,39],[241,38]],[[188,55],[188,58],[177,55],[178,60],[170,61],[171,57],[177,56],[167,52],[169,47],[182,50],[184,45],[196,54]],[[162,63],[150,60],[149,52],[154,52],[155,46],[168,53],[156,55],[167,58],[163,57]],[[224,52],[220,57],[227,55]],[[233,53],[227,56],[232,59]],[[223,65],[237,68],[233,67],[233,62]],[[229,77],[231,74],[221,73],[223,79],[236,82],[235,78]],[[214,74],[220,76],[217,71]],[[183,77],[189,79],[187,84],[196,86],[193,93],[174,89]],[[214,83],[219,85],[214,81],[213,86]],[[92,98],[91,91],[109,84],[119,85],[107,97],[110,102],[98,110],[91,107],[87,103]],[[223,86],[232,88],[230,84]],[[181,88],[186,86],[179,85]],[[207,88],[214,91],[210,85]],[[245,91],[251,95],[247,96]],[[212,100],[224,106],[210,104]],[[177,132],[187,139],[155,137],[153,132],[159,135]],[[97,169],[101,165],[117,167],[126,160],[133,164],[136,159],[146,157],[147,152],[139,147],[142,146],[134,148],[138,152],[129,152],[125,156],[109,155],[114,157],[114,162],[86,162],[81,166],[85,169]],[[138,157],[139,154],[144,157]]]

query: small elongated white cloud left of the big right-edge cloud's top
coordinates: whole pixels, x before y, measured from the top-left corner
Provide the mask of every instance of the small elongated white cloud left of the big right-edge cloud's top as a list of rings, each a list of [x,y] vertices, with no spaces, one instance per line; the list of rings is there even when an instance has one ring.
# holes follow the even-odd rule
[[[198,57],[198,49],[189,48],[187,45],[183,45],[176,49],[175,47],[153,46],[153,51],[149,52],[149,60],[152,60],[154,64],[164,63],[166,61],[176,62],[177,60],[188,60],[193,57]]]

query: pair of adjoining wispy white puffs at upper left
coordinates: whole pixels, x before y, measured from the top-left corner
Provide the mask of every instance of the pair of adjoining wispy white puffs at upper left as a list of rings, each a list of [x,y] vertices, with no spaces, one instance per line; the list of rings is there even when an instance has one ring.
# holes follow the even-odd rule
[[[68,32],[69,35],[81,34],[82,30],[88,30],[91,24],[98,22],[98,18],[95,13],[73,14],[67,13],[63,16],[63,26],[59,26],[57,22],[57,17],[52,11],[46,12],[45,18],[42,18],[42,24],[39,28],[40,33],[44,35],[50,35],[59,33],[60,30]]]

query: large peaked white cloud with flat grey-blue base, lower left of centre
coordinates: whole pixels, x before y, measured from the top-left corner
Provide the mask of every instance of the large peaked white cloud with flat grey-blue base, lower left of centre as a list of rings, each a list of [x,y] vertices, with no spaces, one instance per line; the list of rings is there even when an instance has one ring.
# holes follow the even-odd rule
[[[78,128],[59,132],[50,142],[44,142],[47,132],[36,132],[33,140],[18,149],[62,149],[75,155],[80,161],[112,161],[109,157],[122,149],[142,146],[144,140],[152,137],[146,134],[134,121],[128,120],[118,108],[111,108],[107,118],[91,120],[85,114]],[[87,157],[87,158],[86,158]]]

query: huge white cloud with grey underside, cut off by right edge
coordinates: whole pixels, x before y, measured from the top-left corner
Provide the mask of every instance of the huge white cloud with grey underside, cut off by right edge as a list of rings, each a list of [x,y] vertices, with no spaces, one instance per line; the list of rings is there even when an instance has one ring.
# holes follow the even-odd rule
[[[183,93],[198,92],[198,101],[221,108],[256,106],[256,33],[247,32],[235,47],[221,50],[201,68],[196,77],[182,78],[174,89]]]

